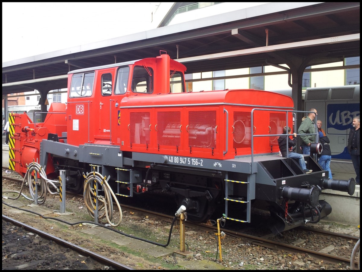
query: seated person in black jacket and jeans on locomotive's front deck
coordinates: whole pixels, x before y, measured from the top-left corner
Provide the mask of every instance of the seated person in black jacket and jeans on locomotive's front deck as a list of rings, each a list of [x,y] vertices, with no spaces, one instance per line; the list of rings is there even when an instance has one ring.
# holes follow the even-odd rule
[[[288,133],[290,133],[291,129],[288,127]],[[290,139],[287,136],[287,127],[283,127],[283,134],[286,134],[285,136],[280,136],[278,138],[278,144],[279,144],[279,150],[282,153],[282,156],[284,158],[293,158],[298,160],[300,167],[304,170],[306,174],[312,173],[312,170],[307,169],[306,162],[304,161],[304,156],[299,153],[295,153],[293,150],[293,147],[296,145],[296,133],[293,133],[293,139]],[[288,147],[287,147],[288,143]],[[288,156],[287,156],[287,150]]]

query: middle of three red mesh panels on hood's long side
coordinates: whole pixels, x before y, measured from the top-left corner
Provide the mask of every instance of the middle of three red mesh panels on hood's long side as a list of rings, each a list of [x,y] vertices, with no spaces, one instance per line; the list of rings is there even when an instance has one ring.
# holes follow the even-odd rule
[[[180,146],[181,143],[181,112],[157,112],[157,144]]]

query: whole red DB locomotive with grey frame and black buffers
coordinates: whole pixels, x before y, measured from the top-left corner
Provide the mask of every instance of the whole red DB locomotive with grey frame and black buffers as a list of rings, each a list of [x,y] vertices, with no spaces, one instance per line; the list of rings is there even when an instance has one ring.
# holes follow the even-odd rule
[[[254,201],[269,206],[274,233],[331,213],[323,189],[353,194],[355,182],[329,180],[305,156],[312,174],[278,155],[278,135],[291,127],[293,101],[262,90],[186,92],[186,67],[162,54],[68,73],[68,102],[52,103],[43,123],[10,114],[10,168],[31,162],[48,178],[65,170],[68,190],[83,190],[83,173],[108,178],[116,195],[169,192],[189,220],[216,207],[250,222]],[[237,208],[231,206],[237,206]]]

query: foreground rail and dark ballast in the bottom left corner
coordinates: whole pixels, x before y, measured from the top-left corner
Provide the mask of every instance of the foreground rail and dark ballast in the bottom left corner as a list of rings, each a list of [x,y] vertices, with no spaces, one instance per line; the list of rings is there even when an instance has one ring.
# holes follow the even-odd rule
[[[4,215],[2,268],[133,270]]]

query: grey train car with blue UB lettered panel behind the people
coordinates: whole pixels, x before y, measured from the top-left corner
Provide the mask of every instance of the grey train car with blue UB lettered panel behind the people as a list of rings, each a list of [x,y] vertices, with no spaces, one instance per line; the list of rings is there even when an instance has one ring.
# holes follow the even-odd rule
[[[359,85],[307,88],[304,105],[305,110],[317,109],[331,140],[332,158],[350,160],[347,142],[352,120],[360,115]]]

